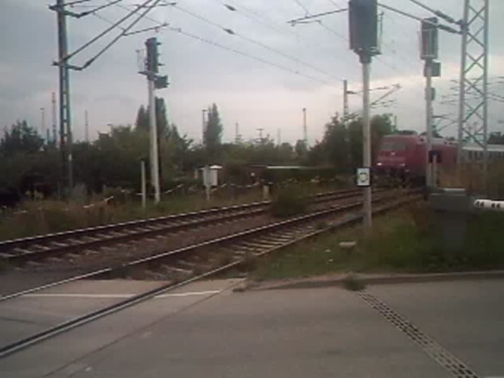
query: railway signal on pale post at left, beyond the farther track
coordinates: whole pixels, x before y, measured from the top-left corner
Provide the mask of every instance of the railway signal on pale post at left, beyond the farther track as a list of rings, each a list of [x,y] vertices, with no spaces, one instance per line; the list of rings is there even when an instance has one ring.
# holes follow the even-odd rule
[[[140,74],[147,77],[147,89],[149,93],[150,172],[151,185],[154,188],[154,202],[156,204],[161,200],[161,188],[159,184],[159,151],[156,124],[156,97],[154,90],[166,88],[168,86],[168,77],[158,75],[160,66],[158,46],[160,44],[161,43],[159,43],[155,37],[145,41],[147,56],[144,70],[140,72]]]

